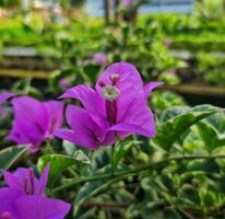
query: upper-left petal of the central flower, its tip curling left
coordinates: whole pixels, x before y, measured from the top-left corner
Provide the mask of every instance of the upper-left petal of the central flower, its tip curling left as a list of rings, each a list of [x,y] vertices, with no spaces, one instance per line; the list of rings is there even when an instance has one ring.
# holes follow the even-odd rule
[[[94,89],[76,85],[66,91],[60,99],[78,99],[95,123],[106,126],[105,102]]]

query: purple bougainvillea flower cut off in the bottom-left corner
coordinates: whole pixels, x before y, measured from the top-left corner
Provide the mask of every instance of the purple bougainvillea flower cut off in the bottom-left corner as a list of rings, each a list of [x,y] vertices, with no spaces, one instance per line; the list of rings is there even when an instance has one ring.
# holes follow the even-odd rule
[[[0,188],[0,218],[64,218],[70,210],[70,205],[45,196],[48,172],[47,165],[38,180],[34,176],[33,169],[17,169],[15,173],[4,171],[8,186]]]

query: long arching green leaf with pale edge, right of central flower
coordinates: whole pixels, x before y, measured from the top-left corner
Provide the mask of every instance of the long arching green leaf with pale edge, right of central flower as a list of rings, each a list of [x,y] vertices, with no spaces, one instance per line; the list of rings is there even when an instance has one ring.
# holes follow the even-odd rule
[[[216,108],[210,105],[202,105],[202,107],[193,107],[187,113],[177,115],[157,128],[157,135],[153,140],[154,143],[165,150],[169,150],[173,143],[188,130],[193,124],[212,115]]]

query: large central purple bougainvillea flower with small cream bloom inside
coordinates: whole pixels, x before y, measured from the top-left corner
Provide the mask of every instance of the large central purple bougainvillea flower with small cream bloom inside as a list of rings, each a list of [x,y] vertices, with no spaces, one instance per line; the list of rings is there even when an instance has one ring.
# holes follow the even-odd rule
[[[69,105],[67,122],[71,129],[59,129],[59,138],[88,149],[110,146],[132,134],[155,136],[155,122],[147,96],[161,82],[143,85],[138,70],[128,62],[109,66],[98,78],[95,89],[78,85],[61,96],[76,99],[83,107]]]

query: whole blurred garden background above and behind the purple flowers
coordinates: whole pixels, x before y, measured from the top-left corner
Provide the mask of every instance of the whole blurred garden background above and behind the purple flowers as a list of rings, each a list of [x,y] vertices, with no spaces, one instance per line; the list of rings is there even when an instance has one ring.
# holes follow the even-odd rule
[[[155,111],[225,106],[225,0],[0,0],[0,88],[56,97],[115,61],[165,85]]]

